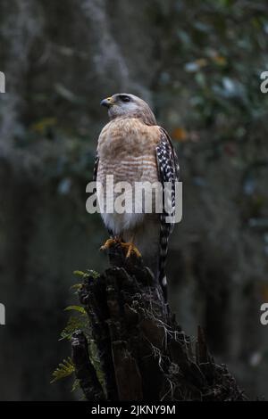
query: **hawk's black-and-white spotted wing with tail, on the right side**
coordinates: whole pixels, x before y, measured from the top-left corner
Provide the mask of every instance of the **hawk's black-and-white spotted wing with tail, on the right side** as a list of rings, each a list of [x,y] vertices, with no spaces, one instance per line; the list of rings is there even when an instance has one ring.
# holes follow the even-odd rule
[[[174,223],[167,222],[167,217],[173,217],[175,214],[175,192],[176,182],[179,181],[180,167],[175,149],[172,145],[172,139],[168,133],[160,127],[161,139],[156,146],[156,160],[158,168],[159,181],[163,185],[169,182],[171,188],[163,193],[163,212],[160,215],[160,256],[159,256],[159,280],[165,284],[164,266],[168,249],[169,236],[172,233]],[[170,193],[167,193],[169,192]],[[168,202],[167,202],[168,201]],[[167,210],[168,209],[168,210]]]

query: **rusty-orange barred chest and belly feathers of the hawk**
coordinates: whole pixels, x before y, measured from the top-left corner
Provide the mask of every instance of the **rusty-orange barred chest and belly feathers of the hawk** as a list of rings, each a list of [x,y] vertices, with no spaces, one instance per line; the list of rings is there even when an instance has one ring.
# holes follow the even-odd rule
[[[160,130],[157,126],[148,127],[139,119],[114,119],[102,130],[97,152],[99,157],[97,182],[104,188],[104,199],[108,199],[106,177],[113,175],[113,184],[128,182],[158,181],[155,147],[159,143]],[[113,195],[114,200],[116,194]],[[132,197],[125,194],[125,199]],[[98,200],[102,197],[98,194]],[[101,202],[100,202],[101,203]],[[146,214],[113,212],[101,214],[105,226],[114,234],[134,230],[144,222]]]

